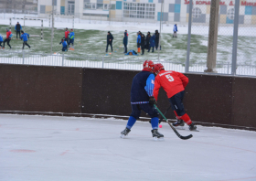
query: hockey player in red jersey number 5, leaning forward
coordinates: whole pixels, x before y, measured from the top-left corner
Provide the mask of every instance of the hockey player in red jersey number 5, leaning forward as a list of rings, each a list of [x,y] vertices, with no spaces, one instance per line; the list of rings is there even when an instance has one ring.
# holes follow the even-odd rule
[[[155,64],[155,74],[155,88],[153,93],[155,100],[157,101],[159,89],[163,87],[176,114],[177,122],[173,123],[173,125],[184,126],[184,122],[186,122],[189,125],[190,131],[197,130],[197,126],[191,122],[185,112],[182,102],[188,78],[184,74],[176,71],[166,71],[161,63]]]

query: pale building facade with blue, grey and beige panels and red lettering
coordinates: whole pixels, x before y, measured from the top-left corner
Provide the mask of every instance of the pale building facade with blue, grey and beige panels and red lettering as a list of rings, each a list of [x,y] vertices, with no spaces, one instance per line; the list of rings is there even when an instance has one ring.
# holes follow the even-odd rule
[[[221,0],[219,23],[233,24],[235,0]],[[38,0],[38,15],[52,11],[52,0]],[[161,11],[162,9],[162,11]],[[80,18],[106,18],[112,21],[155,22],[187,24],[189,0],[54,0],[55,14]],[[162,12],[162,14],[161,14]],[[192,20],[208,24],[210,1],[194,0]],[[240,0],[240,24],[256,25],[256,0]]]

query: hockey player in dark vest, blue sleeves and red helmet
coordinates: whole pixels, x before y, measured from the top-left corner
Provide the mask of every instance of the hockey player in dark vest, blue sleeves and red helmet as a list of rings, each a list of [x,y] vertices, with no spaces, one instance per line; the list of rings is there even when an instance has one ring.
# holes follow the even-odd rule
[[[135,75],[131,90],[132,113],[126,124],[125,129],[121,132],[121,138],[124,138],[131,132],[133,124],[139,119],[141,111],[146,112],[151,117],[152,135],[154,140],[163,140],[164,135],[158,132],[158,115],[155,110],[156,104],[153,96],[155,87],[154,63],[151,60],[144,61],[144,69]]]

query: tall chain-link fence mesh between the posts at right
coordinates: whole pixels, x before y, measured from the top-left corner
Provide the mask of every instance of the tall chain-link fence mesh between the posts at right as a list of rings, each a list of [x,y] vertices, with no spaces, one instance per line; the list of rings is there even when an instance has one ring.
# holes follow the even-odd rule
[[[256,66],[256,0],[240,1],[239,35],[237,48],[237,74],[251,75],[251,68]],[[189,5],[188,5],[189,7]],[[210,3],[209,1],[193,0],[191,47],[189,62],[206,62],[208,56]],[[235,18],[235,0],[221,0],[219,2],[219,25],[217,44],[218,65],[232,63],[233,30]],[[210,27],[212,28],[212,27]],[[248,73],[247,70],[248,69]],[[194,71],[189,68],[189,71]],[[230,71],[229,71],[230,73]],[[256,75],[255,73],[252,75]]]

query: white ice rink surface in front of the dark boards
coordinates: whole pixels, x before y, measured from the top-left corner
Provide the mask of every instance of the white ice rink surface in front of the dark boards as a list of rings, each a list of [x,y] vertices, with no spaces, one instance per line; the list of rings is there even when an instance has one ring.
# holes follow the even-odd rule
[[[0,114],[1,181],[256,180],[256,133],[198,126],[179,139],[167,123]],[[178,130],[188,135],[188,130]]]

